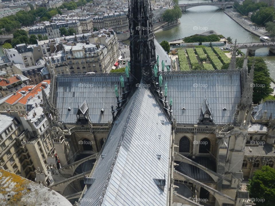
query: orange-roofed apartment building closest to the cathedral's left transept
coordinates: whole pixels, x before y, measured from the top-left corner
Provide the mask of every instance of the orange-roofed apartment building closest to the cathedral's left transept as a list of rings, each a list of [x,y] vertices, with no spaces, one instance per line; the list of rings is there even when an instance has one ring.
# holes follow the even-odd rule
[[[50,92],[49,84],[50,80],[45,80],[37,85],[24,86],[17,92],[5,96],[0,99],[0,111],[14,110],[22,115],[27,114],[36,104],[42,102],[42,88],[46,94]]]

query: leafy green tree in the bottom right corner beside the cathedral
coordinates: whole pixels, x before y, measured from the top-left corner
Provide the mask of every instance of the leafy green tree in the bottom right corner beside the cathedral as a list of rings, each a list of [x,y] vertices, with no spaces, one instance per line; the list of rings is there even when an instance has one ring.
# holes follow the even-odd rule
[[[256,206],[273,206],[275,199],[275,169],[262,166],[249,180],[250,198],[255,199]]]

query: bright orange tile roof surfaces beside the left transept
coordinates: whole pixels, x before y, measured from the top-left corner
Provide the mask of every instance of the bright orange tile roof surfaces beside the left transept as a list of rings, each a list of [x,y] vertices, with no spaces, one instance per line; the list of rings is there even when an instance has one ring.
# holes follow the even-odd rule
[[[50,80],[44,80],[43,82],[47,82],[48,85],[50,84]],[[41,92],[41,88],[45,88],[45,86],[41,85],[42,82],[40,82],[37,85],[28,85],[28,86],[24,86],[22,89],[18,90],[15,95],[11,95],[10,98],[8,98],[5,102],[8,104],[15,104],[15,103],[21,103],[23,105],[25,105],[28,102],[28,98],[30,98],[31,96],[34,97],[35,94],[38,94],[39,92]],[[29,91],[28,89],[32,88],[31,91]],[[26,91],[25,96],[23,96],[23,94],[21,93],[21,91]]]

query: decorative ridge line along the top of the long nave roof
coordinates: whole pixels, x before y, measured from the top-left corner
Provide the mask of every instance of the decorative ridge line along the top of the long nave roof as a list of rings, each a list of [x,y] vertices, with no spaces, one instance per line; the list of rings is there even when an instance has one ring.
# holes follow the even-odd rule
[[[142,81],[140,82],[140,84],[143,84],[143,83],[144,83],[144,82],[143,82],[143,80],[142,80]],[[119,155],[119,152],[120,152],[120,149],[121,149],[121,146],[122,146],[122,143],[123,143],[123,140],[124,140],[126,131],[127,131],[127,129],[128,129],[129,122],[130,122],[130,120],[131,120],[132,113],[133,113],[133,111],[134,111],[134,107],[135,107],[136,102],[137,102],[137,97],[138,97],[138,95],[139,95],[139,93],[140,93],[141,88],[142,88],[142,87],[139,87],[139,88],[137,89],[136,94],[135,94],[135,96],[134,96],[134,98],[133,98],[133,103],[132,103],[132,105],[131,105],[131,107],[130,107],[130,109],[129,109],[129,114],[128,114],[127,118],[126,118],[126,121],[125,121],[125,124],[124,124],[124,128],[123,128],[122,134],[121,134],[121,136],[120,136],[120,140],[119,140],[118,145],[117,145],[117,148],[116,148],[115,157],[114,157],[113,162],[112,162],[112,164],[111,164],[111,168],[110,168],[109,174],[108,174],[108,176],[107,176],[107,181],[106,181],[106,183],[105,183],[103,192],[102,192],[101,197],[100,197],[100,199],[99,199],[99,204],[98,204],[99,206],[101,206],[101,205],[103,204],[103,202],[104,202],[104,197],[105,197],[105,195],[106,195],[106,193],[107,193],[107,190],[108,190],[108,187],[109,187],[109,184],[110,184],[110,180],[111,180],[111,176],[112,176],[112,174],[113,174],[113,170],[114,170],[115,165],[116,165],[116,162],[117,162],[117,157],[118,157],[118,155]],[[129,103],[129,102],[128,102],[128,103]],[[120,113],[120,114],[121,114],[121,113]]]

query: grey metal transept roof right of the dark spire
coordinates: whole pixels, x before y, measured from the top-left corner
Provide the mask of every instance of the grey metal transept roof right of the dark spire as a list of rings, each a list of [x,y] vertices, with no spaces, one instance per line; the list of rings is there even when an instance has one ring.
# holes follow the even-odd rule
[[[197,124],[202,110],[207,108],[211,108],[215,124],[234,122],[235,109],[241,99],[239,70],[171,72],[162,77],[164,84],[167,82],[167,96],[174,102],[172,109],[177,123]]]

